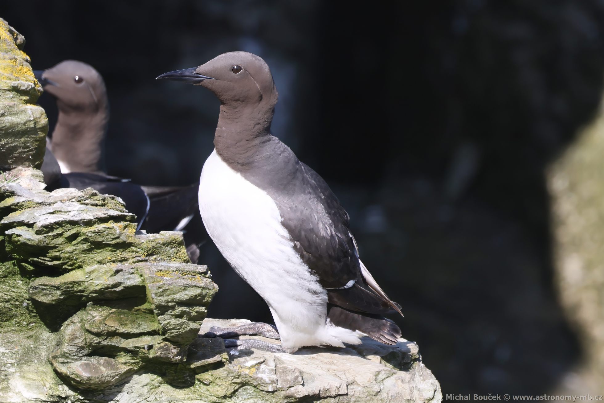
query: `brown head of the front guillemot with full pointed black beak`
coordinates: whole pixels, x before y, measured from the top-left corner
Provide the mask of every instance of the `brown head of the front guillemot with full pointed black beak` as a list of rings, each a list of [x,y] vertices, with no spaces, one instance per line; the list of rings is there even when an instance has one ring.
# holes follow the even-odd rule
[[[201,85],[231,108],[277,103],[271,69],[261,57],[248,52],[229,52],[194,68],[170,71],[156,79]]]

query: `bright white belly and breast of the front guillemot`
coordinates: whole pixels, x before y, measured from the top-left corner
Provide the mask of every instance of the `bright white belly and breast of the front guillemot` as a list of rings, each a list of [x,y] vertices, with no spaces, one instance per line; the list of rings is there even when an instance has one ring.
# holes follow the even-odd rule
[[[199,211],[220,253],[268,303],[286,350],[355,342],[331,334],[341,328],[326,321],[326,291],[294,250],[275,202],[216,150],[201,172]]]

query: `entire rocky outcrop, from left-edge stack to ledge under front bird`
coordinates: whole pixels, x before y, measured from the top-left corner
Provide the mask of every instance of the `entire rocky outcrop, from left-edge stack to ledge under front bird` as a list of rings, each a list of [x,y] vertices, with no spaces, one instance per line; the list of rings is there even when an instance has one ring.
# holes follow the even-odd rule
[[[21,47],[7,27],[0,39],[10,34]],[[11,91],[0,91],[0,103]],[[0,127],[0,160],[19,164],[0,175],[0,401],[442,399],[417,345],[402,339],[290,355],[228,351],[221,338],[200,337],[245,321],[204,320],[217,286],[206,266],[189,262],[182,234],[137,231],[120,199],[92,189],[45,191],[31,167],[39,132],[0,118],[10,126]],[[22,152],[8,155],[4,144]]]

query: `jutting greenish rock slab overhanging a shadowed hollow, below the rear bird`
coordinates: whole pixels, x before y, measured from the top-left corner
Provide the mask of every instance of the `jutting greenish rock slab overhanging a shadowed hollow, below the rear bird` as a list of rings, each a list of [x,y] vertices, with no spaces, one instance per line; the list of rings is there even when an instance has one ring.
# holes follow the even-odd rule
[[[109,263],[75,269],[59,277],[39,277],[31,283],[29,296],[51,327],[60,326],[91,301],[148,298],[167,340],[189,343],[199,330],[216,288],[207,275],[205,266],[186,263]],[[165,301],[162,292],[167,294],[163,295]]]

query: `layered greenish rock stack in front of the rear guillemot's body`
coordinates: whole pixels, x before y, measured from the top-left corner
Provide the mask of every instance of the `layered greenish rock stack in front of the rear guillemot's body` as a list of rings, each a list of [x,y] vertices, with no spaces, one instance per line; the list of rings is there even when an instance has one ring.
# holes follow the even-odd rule
[[[14,362],[31,367],[28,354],[40,354],[36,337],[50,338],[45,363],[83,390],[140,371],[176,386],[194,382],[194,370],[182,366],[217,287],[207,267],[188,263],[182,234],[137,232],[120,199],[92,189],[46,192],[34,169],[7,175],[0,184],[0,351],[12,341],[24,353]],[[25,349],[24,332],[31,335]],[[0,400],[3,390],[36,378],[27,376],[0,381]]]

